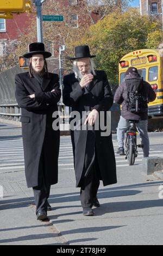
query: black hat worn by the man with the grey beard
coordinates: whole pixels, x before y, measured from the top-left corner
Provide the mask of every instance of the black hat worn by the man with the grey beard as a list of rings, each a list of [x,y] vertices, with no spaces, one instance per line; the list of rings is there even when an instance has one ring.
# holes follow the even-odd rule
[[[93,57],[96,57],[96,55],[90,54],[90,49],[88,45],[79,45],[75,47],[74,58],[70,58],[70,59],[74,60],[74,59],[93,58]]]

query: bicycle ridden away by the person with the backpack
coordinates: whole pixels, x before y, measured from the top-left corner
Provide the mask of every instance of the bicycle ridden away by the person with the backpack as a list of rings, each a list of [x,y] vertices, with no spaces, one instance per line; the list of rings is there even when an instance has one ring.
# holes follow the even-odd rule
[[[142,144],[136,144],[136,125],[139,120],[128,120],[130,125],[128,130],[126,131],[126,159],[128,161],[129,166],[132,166],[135,163],[135,158],[138,155],[137,148],[143,148]]]

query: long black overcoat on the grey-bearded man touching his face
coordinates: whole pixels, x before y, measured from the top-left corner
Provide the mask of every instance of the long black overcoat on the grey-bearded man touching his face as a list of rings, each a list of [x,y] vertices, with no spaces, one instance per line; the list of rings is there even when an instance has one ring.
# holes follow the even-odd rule
[[[82,117],[82,112],[91,111],[95,108],[99,114],[109,111],[113,103],[113,96],[108,79],[104,71],[96,71],[93,81],[87,89],[82,89],[78,79],[74,74],[64,77],[63,100],[65,105],[71,106],[72,111],[78,111]],[[106,117],[106,116],[105,116]],[[106,120],[104,120],[106,121]],[[83,121],[81,121],[81,124]],[[76,174],[76,186],[80,186],[80,179],[83,172],[86,143],[89,136],[86,130],[71,130],[74,169]],[[96,157],[98,160],[97,171],[101,174],[103,185],[110,185],[117,182],[116,163],[114,148],[112,145],[111,133],[102,136],[101,129],[95,130]]]

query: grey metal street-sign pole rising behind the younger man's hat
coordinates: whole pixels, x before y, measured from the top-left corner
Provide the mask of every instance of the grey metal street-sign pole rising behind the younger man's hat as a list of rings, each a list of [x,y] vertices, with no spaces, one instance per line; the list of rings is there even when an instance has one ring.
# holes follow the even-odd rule
[[[37,11],[37,42],[43,42],[41,7],[46,0],[33,0]]]

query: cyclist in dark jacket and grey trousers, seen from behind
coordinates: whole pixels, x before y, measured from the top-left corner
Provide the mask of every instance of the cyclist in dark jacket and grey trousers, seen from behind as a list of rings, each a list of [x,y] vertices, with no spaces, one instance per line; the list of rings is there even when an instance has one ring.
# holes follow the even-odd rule
[[[149,138],[148,138],[148,105],[146,104],[145,111],[140,113],[131,113],[128,109],[128,93],[127,93],[127,82],[126,80],[134,80],[135,78],[140,78],[137,69],[130,66],[125,74],[124,81],[117,88],[114,101],[117,104],[122,104],[121,117],[118,122],[117,127],[117,141],[118,141],[118,151],[117,154],[124,155],[124,133],[129,126],[128,120],[139,120],[136,123],[137,131],[140,135],[141,142],[143,144],[143,157],[149,156]],[[154,101],[156,94],[152,89],[151,85],[143,81],[143,95],[146,97],[146,101]]]

